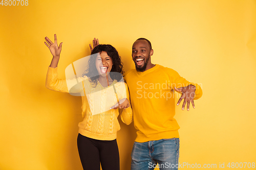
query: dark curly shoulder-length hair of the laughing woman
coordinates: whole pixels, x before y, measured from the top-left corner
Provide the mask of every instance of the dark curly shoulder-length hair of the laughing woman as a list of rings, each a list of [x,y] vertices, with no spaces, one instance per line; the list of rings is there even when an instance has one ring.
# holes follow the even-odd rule
[[[98,70],[96,68],[96,57],[97,53],[106,52],[108,56],[111,57],[113,66],[110,71],[110,77],[112,80],[120,81],[123,78],[123,63],[121,62],[121,57],[119,56],[115,47],[110,44],[99,44],[97,45],[93,51],[91,52],[91,57],[88,62],[88,66],[86,71],[84,71],[82,76],[87,76],[92,85],[97,86],[97,79],[99,78]],[[115,72],[119,72],[120,74],[116,74]]]

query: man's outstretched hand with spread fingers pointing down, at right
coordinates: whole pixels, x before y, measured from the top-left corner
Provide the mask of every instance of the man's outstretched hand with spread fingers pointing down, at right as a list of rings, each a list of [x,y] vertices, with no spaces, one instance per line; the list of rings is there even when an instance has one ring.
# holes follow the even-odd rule
[[[187,103],[187,111],[188,111],[190,102],[193,105],[193,108],[195,108],[194,98],[195,98],[196,87],[194,85],[188,85],[186,87],[180,87],[180,88],[174,87],[174,89],[176,91],[182,92],[181,97],[177,103],[177,105],[179,105],[181,103],[181,101],[184,99],[183,105],[182,105],[182,110],[184,110],[184,107]]]

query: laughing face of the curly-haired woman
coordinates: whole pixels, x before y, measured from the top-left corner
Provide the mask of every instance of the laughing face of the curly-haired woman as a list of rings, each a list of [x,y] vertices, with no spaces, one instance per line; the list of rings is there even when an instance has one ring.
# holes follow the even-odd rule
[[[99,75],[103,77],[106,76],[106,73],[109,74],[113,65],[111,57],[108,56],[108,54],[104,51],[102,51],[100,55],[96,57],[95,63]]]

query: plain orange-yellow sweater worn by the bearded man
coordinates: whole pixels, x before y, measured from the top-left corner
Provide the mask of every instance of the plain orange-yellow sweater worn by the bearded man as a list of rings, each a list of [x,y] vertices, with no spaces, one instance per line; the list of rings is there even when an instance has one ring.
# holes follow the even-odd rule
[[[195,85],[194,100],[202,96],[201,87],[180,77],[175,70],[158,64],[144,72],[129,70],[125,73],[124,79],[129,86],[134,126],[138,130],[135,141],[178,138],[180,127],[174,118],[174,87]]]

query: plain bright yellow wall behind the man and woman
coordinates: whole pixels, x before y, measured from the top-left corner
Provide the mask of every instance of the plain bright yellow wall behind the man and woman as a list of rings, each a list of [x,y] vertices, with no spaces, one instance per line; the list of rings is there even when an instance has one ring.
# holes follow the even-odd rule
[[[59,78],[90,54],[94,37],[117,48],[125,71],[134,68],[133,42],[149,39],[153,63],[203,89],[196,109],[176,109],[180,163],[256,162],[255,0],[29,1],[0,5],[0,24],[1,170],[82,169],[81,99],[45,87],[52,57],[44,37],[54,34],[63,42]],[[136,134],[133,124],[120,124],[126,170]]]

